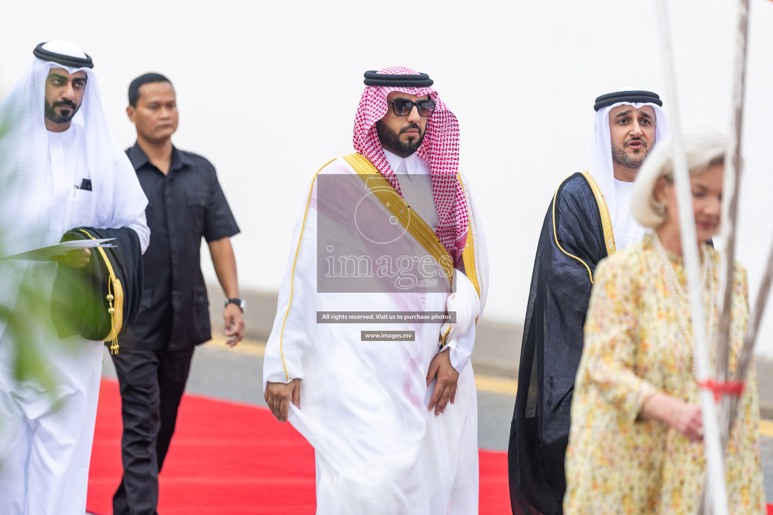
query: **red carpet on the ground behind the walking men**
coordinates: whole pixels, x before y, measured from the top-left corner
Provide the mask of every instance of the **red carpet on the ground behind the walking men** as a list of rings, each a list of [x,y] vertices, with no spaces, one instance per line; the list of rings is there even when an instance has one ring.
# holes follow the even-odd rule
[[[113,513],[121,482],[121,396],[102,381],[87,510]],[[265,408],[186,395],[159,476],[163,515],[315,512],[314,451]],[[506,452],[480,452],[480,514],[510,513]]]

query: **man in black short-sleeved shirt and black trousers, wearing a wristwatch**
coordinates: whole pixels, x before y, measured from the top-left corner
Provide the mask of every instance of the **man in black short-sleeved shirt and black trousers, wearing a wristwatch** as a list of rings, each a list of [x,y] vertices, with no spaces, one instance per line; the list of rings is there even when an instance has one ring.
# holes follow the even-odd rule
[[[244,302],[230,237],[239,232],[205,158],[172,145],[177,104],[172,83],[147,73],[129,86],[129,119],[137,143],[126,151],[148,197],[151,242],[145,252],[145,290],[137,318],[113,362],[121,386],[124,477],[114,515],[156,515],[158,472],[175,431],[193,349],[211,338],[209,301],[201,273],[202,236],[226,294],[227,344],[243,337]]]

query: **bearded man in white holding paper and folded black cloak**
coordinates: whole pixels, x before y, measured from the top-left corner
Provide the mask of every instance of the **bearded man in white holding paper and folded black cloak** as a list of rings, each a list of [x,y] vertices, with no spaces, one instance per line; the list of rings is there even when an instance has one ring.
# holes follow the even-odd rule
[[[94,233],[114,234],[119,246],[77,249],[47,262],[0,261],[2,307],[19,310],[29,290],[51,304],[50,317],[29,320],[26,341],[46,358],[46,374],[56,385],[46,390],[33,381],[15,381],[18,335],[0,320],[0,513],[83,515],[103,355],[103,342],[93,340],[106,338],[87,336],[78,320],[74,329],[55,324],[52,320],[62,313],[55,312],[61,299],[54,292],[63,276],[79,271],[96,277],[109,270],[113,288],[123,280],[123,289],[109,290],[107,296],[100,293],[101,284],[94,288],[102,301],[94,310],[108,316],[115,344],[121,330],[116,311],[131,318],[126,307],[138,301],[128,295],[141,281],[141,268],[135,265],[141,266],[150,238],[148,201],[107,130],[92,59],[63,41],[41,43],[33,54],[0,101],[3,254]]]

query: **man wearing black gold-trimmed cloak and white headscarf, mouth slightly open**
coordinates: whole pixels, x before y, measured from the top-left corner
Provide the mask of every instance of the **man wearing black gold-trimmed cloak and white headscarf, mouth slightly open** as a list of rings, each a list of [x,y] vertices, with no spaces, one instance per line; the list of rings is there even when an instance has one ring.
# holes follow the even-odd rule
[[[598,97],[588,152],[591,170],[564,179],[547,209],[534,259],[510,427],[513,515],[563,513],[564,453],[593,273],[615,247],[622,249],[644,236],[629,205],[639,167],[668,130],[661,106],[658,95],[649,91]]]

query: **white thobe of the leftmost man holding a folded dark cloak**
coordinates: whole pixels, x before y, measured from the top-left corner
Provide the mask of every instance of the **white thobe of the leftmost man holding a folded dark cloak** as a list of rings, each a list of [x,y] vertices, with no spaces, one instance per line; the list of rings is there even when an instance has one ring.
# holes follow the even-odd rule
[[[83,127],[72,124],[48,136],[42,191],[29,192],[43,196],[39,213],[43,231],[29,248],[59,242],[75,227],[100,227],[94,191],[80,188],[83,179],[98,177],[90,174]],[[113,213],[101,214],[102,228],[135,229],[144,252],[150,234],[145,223],[147,198],[125,154],[120,148],[113,150],[114,191],[102,190],[112,197]],[[29,263],[23,278],[47,302],[56,266]],[[23,312],[25,301],[19,298],[15,310]],[[57,387],[42,391],[35,383],[14,381],[12,335],[5,330],[0,337],[0,513],[83,515],[104,344],[80,336],[60,340],[50,319],[36,320],[29,332],[36,336],[36,348]]]

